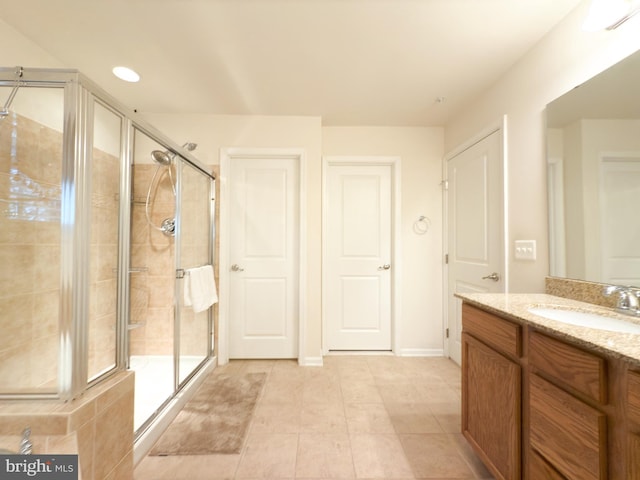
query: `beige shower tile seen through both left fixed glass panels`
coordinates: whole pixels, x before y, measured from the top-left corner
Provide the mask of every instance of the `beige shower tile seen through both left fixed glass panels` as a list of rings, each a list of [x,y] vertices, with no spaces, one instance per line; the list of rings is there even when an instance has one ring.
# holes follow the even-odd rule
[[[119,161],[93,153],[89,375],[114,364]],[[62,134],[15,113],[0,121],[0,385],[57,387]]]

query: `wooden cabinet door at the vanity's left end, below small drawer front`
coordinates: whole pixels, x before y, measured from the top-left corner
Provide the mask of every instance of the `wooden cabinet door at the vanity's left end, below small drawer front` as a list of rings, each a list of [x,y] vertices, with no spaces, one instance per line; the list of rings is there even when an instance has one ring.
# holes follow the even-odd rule
[[[462,335],[462,433],[498,480],[520,480],[520,366]]]

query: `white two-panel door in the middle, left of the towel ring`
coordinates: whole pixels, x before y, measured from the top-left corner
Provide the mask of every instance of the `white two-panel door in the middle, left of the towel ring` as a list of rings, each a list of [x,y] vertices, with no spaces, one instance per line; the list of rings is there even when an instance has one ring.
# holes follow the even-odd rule
[[[328,350],[391,350],[391,168],[327,168]]]

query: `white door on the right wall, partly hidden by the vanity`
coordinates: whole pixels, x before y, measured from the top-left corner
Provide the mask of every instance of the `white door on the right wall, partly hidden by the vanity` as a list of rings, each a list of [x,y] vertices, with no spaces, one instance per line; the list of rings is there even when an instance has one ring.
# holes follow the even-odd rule
[[[496,131],[447,162],[449,356],[461,362],[461,301],[454,293],[503,292],[503,174]]]

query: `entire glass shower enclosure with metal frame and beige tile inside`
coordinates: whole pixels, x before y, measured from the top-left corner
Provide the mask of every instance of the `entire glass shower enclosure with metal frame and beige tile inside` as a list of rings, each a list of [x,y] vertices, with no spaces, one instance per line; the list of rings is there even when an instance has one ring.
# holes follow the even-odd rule
[[[213,358],[182,289],[213,263],[214,177],[77,71],[0,68],[0,104],[0,398],[131,367],[141,431]]]

